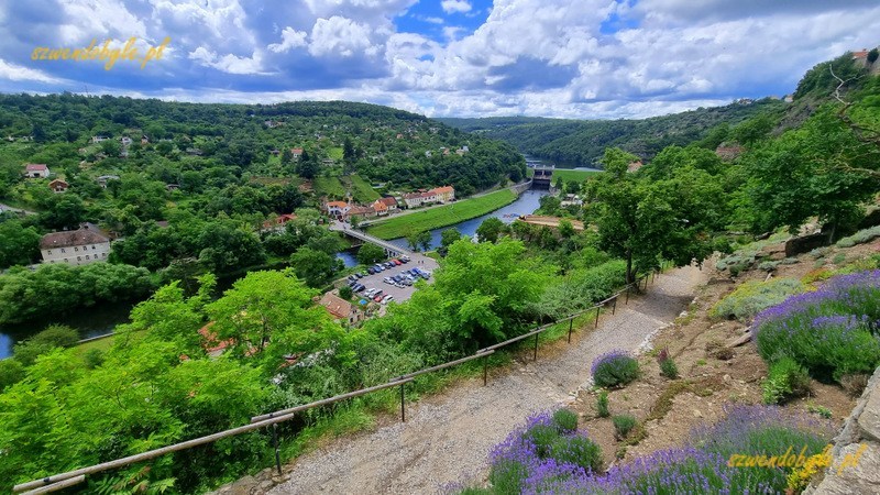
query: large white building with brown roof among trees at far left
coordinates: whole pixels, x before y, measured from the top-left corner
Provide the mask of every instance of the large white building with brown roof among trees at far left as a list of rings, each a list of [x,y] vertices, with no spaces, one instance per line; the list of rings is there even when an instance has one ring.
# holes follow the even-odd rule
[[[85,223],[77,230],[43,235],[40,253],[43,263],[85,265],[105,262],[110,253],[110,238],[95,224]]]

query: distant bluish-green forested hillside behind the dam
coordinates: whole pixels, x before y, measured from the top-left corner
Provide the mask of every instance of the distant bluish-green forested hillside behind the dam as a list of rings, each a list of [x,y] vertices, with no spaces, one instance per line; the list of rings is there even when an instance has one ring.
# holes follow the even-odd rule
[[[660,150],[702,140],[714,128],[734,127],[785,103],[762,99],[701,108],[642,120],[558,120],[535,118],[440,119],[474,134],[507,141],[526,154],[553,162],[595,166],[606,147],[616,146],[650,160]],[[716,144],[717,145],[717,144]]]

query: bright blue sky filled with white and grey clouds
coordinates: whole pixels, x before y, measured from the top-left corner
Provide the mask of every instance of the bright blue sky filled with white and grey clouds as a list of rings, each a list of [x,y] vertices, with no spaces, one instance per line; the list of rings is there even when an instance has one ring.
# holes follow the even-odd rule
[[[880,44],[880,1],[28,0],[0,32],[2,92],[618,119],[791,94]]]

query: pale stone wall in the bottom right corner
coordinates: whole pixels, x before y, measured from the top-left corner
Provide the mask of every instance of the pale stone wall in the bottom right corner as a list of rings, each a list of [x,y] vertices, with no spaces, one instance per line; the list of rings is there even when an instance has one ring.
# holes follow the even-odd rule
[[[804,494],[880,493],[880,367],[834,439],[834,462],[817,486]]]

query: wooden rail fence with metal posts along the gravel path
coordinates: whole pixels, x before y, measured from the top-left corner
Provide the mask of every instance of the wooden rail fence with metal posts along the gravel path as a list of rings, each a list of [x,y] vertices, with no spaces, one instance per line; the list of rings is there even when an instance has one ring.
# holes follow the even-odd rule
[[[309,404],[304,404],[301,406],[290,407],[286,409],[276,410],[273,413],[268,413],[265,415],[254,416],[251,418],[250,425],[240,426],[237,428],[231,428],[223,431],[218,431],[212,435],[208,435],[205,437],[195,438],[191,440],[187,440],[184,442],[175,443],[167,447],[162,447],[158,449],[150,450],[147,452],[143,452],[135,455],[129,455],[125,458],[120,458],[113,461],[102,462],[100,464],[90,465],[87,468],[81,468],[75,471],[68,471],[65,473],[54,474],[52,476],[46,476],[40,480],[30,481],[26,483],[22,483],[15,485],[12,488],[13,493],[24,493],[25,495],[38,494],[38,493],[50,493],[55,492],[62,488],[66,488],[68,486],[74,486],[76,484],[82,483],[86,481],[86,475],[99,473],[102,471],[109,471],[112,469],[123,468],[129,464],[134,464],[136,462],[146,461],[150,459],[154,459],[161,455],[165,455],[167,453],[177,452],[180,450],[191,449],[194,447],[204,446],[206,443],[211,443],[220,439],[234,437],[238,435],[246,433],[249,431],[258,430],[261,428],[272,428],[272,447],[275,451],[275,468],[278,471],[278,474],[282,473],[282,464],[280,464],[280,453],[278,448],[278,424],[288,421],[296,417],[297,413],[301,413],[305,410],[314,409],[316,407],[327,406],[330,404],[336,404],[345,399],[360,397],[366,394],[371,394],[374,392],[385,391],[388,388],[400,387],[400,421],[406,422],[406,384],[411,383],[417,376],[424,375],[427,373],[433,373],[441,370],[446,370],[448,367],[457,366],[462,363],[466,363],[474,360],[483,360],[483,385],[485,386],[488,383],[488,360],[487,358],[495,353],[496,350],[505,348],[507,345],[514,344],[516,342],[524,341],[529,338],[535,338],[535,349],[532,353],[532,360],[538,359],[538,338],[544,331],[560,324],[569,322],[569,331],[568,331],[568,342],[571,343],[571,336],[574,329],[574,320],[581,316],[587,315],[592,311],[596,312],[594,328],[598,327],[598,317],[600,311],[607,306],[609,302],[612,304],[612,315],[615,314],[617,310],[617,299],[622,295],[626,295],[625,304],[629,302],[629,294],[635,288],[637,290],[640,289],[641,284],[645,284],[645,289],[648,288],[648,283],[653,280],[654,277],[659,274],[659,271],[650,272],[641,277],[638,277],[636,282],[627,284],[620,290],[614,293],[610,297],[596,302],[595,305],[578,311],[573,315],[569,315],[564,318],[557,319],[550,323],[546,323],[542,326],[537,327],[535,330],[524,333],[521,336],[514,337],[513,339],[505,340],[504,342],[499,342],[487,348],[483,348],[477,350],[473,355],[469,355],[466,358],[462,358],[459,360],[450,361],[443,364],[438,364],[436,366],[427,367],[424,370],[419,370],[413,373],[408,373],[398,377],[393,378],[391,382],[376,385],[373,387],[361,388],[354,392],[350,392],[346,394],[337,395],[334,397],[317,400]]]

